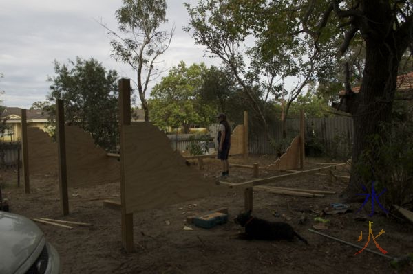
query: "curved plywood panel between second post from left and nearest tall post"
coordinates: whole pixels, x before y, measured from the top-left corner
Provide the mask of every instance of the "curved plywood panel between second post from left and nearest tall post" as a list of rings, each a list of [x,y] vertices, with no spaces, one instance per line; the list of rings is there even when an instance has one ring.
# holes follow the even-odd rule
[[[94,144],[90,133],[65,126],[67,185],[69,187],[120,181],[120,163]]]

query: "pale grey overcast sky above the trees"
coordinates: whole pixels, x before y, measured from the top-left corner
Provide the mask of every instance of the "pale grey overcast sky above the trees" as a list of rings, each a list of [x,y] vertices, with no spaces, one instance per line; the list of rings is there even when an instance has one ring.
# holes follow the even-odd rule
[[[217,58],[203,58],[204,47],[195,45],[182,31],[189,16],[183,3],[196,0],[167,0],[169,28],[175,23],[176,34],[171,46],[160,58],[170,68],[184,60],[187,65],[205,62],[218,65]],[[112,30],[118,23],[114,13],[121,0],[0,0],[0,95],[5,106],[30,108],[33,102],[44,101],[54,76],[53,62],[67,62],[76,56],[94,57],[107,69],[115,69],[121,77],[133,78],[127,65],[111,57],[110,37],[95,20]],[[164,73],[166,75],[167,73]]]

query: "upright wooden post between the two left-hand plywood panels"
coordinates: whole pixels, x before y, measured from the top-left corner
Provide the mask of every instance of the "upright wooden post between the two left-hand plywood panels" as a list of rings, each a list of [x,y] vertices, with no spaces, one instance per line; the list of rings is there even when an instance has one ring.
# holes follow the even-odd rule
[[[56,100],[56,139],[57,159],[59,161],[59,195],[62,214],[65,216],[69,214],[69,198],[67,195],[65,107],[63,100]]]

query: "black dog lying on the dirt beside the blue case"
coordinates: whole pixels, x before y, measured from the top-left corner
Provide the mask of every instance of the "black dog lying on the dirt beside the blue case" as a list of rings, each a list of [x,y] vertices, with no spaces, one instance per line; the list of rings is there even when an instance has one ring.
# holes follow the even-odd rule
[[[251,210],[244,212],[234,219],[234,222],[245,227],[247,238],[257,240],[293,240],[294,236],[308,244],[307,240],[299,236],[293,227],[286,222],[269,222],[251,216]]]

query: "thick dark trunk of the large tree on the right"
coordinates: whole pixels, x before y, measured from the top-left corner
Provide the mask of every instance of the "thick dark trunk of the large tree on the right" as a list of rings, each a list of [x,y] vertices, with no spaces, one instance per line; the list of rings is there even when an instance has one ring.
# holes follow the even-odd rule
[[[365,179],[357,172],[356,165],[369,144],[370,136],[379,135],[385,138],[381,123],[390,122],[391,119],[398,67],[396,51],[392,50],[389,44],[378,45],[377,42],[366,41],[366,63],[361,89],[348,104],[353,117],[354,138],[350,183],[343,192],[343,197],[349,200],[356,197],[363,199],[363,196],[355,194],[363,193],[361,185],[368,185],[373,181],[373,177],[370,181],[363,181]]]

